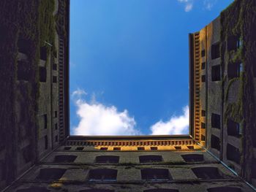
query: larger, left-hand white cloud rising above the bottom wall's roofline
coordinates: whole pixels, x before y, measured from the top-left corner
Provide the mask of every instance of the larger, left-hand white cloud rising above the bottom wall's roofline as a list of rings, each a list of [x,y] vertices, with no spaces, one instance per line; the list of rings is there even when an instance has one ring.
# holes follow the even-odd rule
[[[81,95],[85,91],[74,91],[72,95]],[[129,116],[127,110],[118,112],[115,106],[105,106],[92,96],[90,102],[76,99],[77,115],[80,118],[78,126],[73,127],[75,135],[138,135],[135,129],[135,119]]]

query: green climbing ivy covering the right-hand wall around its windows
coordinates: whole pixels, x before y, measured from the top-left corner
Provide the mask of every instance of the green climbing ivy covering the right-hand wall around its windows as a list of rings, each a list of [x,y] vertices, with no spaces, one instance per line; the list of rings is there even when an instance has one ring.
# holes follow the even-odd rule
[[[227,64],[243,64],[240,77],[228,80],[227,74],[223,77],[225,88],[224,123],[227,127],[227,118],[240,123],[243,131],[241,146],[241,166],[244,167],[242,176],[250,178],[252,166],[252,128],[255,126],[255,100],[253,82],[253,62],[255,61],[255,29],[256,29],[256,1],[235,0],[221,13],[221,59],[222,72]],[[239,37],[242,46],[238,50],[227,50],[228,37]],[[233,82],[239,82],[238,99],[229,103],[228,97]]]

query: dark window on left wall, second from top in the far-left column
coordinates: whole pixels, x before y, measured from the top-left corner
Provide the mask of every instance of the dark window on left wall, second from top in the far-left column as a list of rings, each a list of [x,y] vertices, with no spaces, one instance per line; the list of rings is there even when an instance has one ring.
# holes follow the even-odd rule
[[[18,61],[18,65],[17,65],[18,80],[29,81],[29,77],[31,77],[31,70],[29,68],[29,62],[28,61]]]

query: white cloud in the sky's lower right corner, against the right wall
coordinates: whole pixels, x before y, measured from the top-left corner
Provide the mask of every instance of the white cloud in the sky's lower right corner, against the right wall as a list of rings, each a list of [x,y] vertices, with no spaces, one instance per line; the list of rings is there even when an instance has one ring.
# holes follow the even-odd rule
[[[151,134],[187,134],[189,128],[189,107],[184,107],[181,116],[173,116],[167,122],[159,120],[150,127]]]

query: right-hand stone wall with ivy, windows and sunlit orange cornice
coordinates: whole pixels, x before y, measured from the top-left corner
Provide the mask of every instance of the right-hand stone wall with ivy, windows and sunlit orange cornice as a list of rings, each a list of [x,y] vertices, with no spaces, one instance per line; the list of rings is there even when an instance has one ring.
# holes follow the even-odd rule
[[[255,1],[234,1],[189,34],[190,125],[197,142],[256,186]]]

